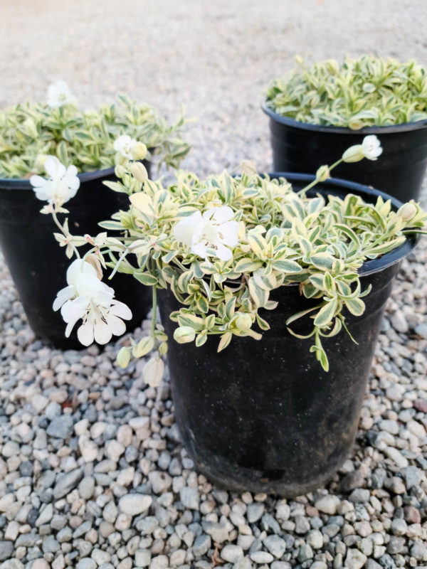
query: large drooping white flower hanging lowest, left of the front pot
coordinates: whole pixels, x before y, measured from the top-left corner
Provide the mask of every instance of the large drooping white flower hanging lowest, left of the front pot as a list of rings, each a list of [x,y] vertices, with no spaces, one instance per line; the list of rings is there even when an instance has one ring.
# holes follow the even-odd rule
[[[122,302],[114,299],[114,290],[97,278],[95,267],[82,259],[76,259],[67,270],[68,287],[61,289],[53,310],[59,310],[67,324],[65,336],[70,336],[80,319],[83,324],[77,336],[83,346],[107,344],[112,335],[120,336],[126,331],[122,319],[132,318],[132,312]]]

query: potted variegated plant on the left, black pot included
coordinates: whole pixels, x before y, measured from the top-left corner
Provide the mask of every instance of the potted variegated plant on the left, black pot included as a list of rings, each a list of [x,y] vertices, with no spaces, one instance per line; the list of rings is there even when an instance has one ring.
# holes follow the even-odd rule
[[[61,177],[56,163],[62,164],[63,175],[73,165],[74,188],[80,186],[67,204],[73,228],[95,234],[100,220],[127,208],[127,198],[109,191],[102,181],[114,188],[115,165],[130,159],[143,161],[148,170],[154,156],[159,163],[178,166],[189,151],[181,139],[184,122],[181,116],[167,124],[156,109],[125,95],[98,110],[80,110],[63,81],[49,87],[47,104],[28,102],[0,110],[0,246],[37,336],[60,348],[80,347],[75,335],[65,339],[60,317],[50,310],[61,282],[60,272],[51,267],[65,270],[66,260],[52,238],[50,221],[38,215],[37,197],[48,199],[53,189],[35,194],[31,176],[47,175],[56,184]],[[68,193],[67,184],[61,184]],[[135,327],[147,313],[147,294],[132,289],[127,280],[119,279],[116,289],[125,302],[132,297],[130,325]]]

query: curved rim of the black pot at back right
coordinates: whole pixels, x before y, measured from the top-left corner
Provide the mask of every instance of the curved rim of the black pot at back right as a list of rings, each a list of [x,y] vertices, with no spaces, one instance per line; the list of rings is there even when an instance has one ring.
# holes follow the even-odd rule
[[[413,130],[427,129],[427,119],[417,120],[415,122],[401,122],[400,124],[388,124],[384,127],[362,127],[361,129],[350,129],[349,127],[333,127],[329,124],[311,124],[310,122],[301,122],[290,117],[283,117],[277,112],[267,107],[266,101],[261,105],[266,115],[275,122],[280,122],[288,127],[295,129],[311,130],[317,132],[329,132],[332,134],[388,134],[394,132],[408,132]]]

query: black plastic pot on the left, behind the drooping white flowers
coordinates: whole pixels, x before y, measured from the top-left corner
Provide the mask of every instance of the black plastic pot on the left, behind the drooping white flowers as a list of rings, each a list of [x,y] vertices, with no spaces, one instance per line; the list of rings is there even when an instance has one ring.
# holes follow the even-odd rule
[[[149,163],[144,162],[147,169]],[[129,208],[129,197],[102,184],[116,180],[114,168],[79,174],[80,188],[65,203],[70,232],[75,235],[97,235],[97,225],[112,213]],[[65,256],[53,237],[58,229],[52,217],[40,213],[43,202],[36,198],[29,180],[0,179],[0,247],[9,266],[28,324],[36,336],[56,348],[81,349],[77,339],[78,324],[65,338],[65,322],[60,312],[53,312],[57,292],[67,286],[65,272],[72,260]],[[60,214],[61,217],[62,214]],[[63,217],[63,216],[62,216]],[[110,283],[108,283],[110,284]],[[111,286],[115,298],[132,310],[127,330],[138,326],[151,307],[151,291],[131,275],[116,273]],[[113,336],[114,338],[115,336]]]

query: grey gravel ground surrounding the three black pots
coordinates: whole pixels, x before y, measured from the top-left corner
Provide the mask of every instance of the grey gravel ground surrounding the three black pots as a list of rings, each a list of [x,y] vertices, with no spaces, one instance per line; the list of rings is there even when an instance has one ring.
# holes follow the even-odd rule
[[[83,105],[117,90],[169,117],[182,103],[199,117],[184,166],[264,170],[260,93],[296,53],[427,64],[423,0],[144,4],[3,0],[0,105],[58,78]],[[35,339],[0,258],[0,569],[427,567],[426,261],[424,240],[396,280],[352,456],[326,489],[286,501],[198,475],[167,381],[117,368],[120,342]]]

